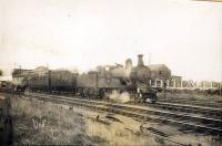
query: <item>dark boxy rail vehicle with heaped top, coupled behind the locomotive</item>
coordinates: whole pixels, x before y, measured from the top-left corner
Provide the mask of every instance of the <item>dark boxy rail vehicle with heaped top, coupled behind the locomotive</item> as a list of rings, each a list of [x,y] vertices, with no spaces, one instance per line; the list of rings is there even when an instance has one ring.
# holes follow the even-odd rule
[[[65,70],[38,67],[23,80],[24,90],[43,92],[72,92],[75,88],[77,74]]]

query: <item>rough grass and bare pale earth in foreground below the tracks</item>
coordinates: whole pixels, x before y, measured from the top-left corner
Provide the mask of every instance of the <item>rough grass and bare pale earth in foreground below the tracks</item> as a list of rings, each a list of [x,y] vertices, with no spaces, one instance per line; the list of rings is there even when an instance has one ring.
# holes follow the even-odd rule
[[[221,145],[213,137],[185,133],[179,127],[36,98],[12,96],[11,107],[16,145],[175,145],[168,139]]]

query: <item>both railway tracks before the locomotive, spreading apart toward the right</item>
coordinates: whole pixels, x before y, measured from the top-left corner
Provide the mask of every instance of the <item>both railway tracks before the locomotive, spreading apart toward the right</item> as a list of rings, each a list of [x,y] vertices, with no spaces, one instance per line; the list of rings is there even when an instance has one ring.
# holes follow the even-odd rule
[[[132,105],[40,93],[30,93],[24,96],[37,97],[46,102],[56,102],[68,104],[70,106],[82,106],[90,109],[121,114],[133,117],[142,123],[152,121],[157,123],[173,124],[181,127],[181,131],[184,132],[203,133],[206,135],[216,135],[219,137],[221,137],[222,134],[222,109],[220,108],[164,102],[149,104],[149,106]]]

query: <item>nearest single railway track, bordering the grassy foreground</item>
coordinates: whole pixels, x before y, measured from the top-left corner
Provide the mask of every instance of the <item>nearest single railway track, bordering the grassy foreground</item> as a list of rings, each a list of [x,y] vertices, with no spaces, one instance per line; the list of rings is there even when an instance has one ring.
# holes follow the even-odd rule
[[[62,104],[70,104],[75,106],[83,106],[90,109],[110,112],[134,117],[141,122],[152,121],[158,123],[169,123],[182,126],[183,129],[205,133],[209,135],[222,134],[222,121],[218,118],[210,118],[204,116],[195,116],[189,113],[169,112],[163,109],[153,109],[148,106],[138,106],[129,104],[117,104],[102,101],[90,101],[82,98],[74,98],[68,96],[47,95],[47,94],[30,94],[43,101],[58,102]],[[160,104],[160,103],[159,103]]]

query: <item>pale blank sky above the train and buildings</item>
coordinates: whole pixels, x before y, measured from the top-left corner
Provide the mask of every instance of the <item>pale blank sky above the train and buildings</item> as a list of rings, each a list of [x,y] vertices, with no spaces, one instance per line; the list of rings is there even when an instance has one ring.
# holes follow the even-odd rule
[[[222,3],[0,0],[0,69],[87,71],[128,58],[137,64],[138,53],[184,79],[222,81]]]

